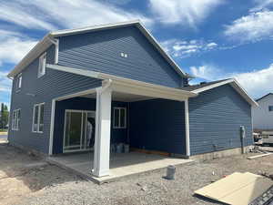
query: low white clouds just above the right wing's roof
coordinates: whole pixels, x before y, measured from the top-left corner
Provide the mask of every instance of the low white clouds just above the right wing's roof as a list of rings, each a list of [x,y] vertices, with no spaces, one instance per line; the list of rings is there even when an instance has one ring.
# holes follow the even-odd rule
[[[192,75],[208,81],[235,77],[252,97],[260,97],[273,91],[273,64],[247,73],[227,73],[223,69],[209,65],[190,67],[190,70]]]

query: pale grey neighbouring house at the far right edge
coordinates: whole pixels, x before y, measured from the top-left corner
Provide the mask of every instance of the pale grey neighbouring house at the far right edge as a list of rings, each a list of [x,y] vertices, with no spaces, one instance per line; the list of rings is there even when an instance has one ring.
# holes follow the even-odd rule
[[[258,107],[252,108],[253,128],[258,130],[273,130],[273,93],[256,100]]]

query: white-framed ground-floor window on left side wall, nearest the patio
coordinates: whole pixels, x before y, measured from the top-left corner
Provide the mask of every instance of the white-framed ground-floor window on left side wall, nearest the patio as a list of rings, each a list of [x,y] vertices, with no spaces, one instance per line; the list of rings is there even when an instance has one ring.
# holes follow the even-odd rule
[[[44,107],[45,103],[35,104],[33,108],[32,131],[43,133],[44,130]]]

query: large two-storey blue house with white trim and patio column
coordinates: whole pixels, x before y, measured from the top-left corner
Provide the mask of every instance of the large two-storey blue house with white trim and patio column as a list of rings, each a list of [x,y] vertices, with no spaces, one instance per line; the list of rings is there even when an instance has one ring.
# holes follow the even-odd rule
[[[86,132],[96,130],[98,177],[108,174],[113,143],[188,158],[239,148],[240,126],[253,143],[257,103],[238,82],[189,86],[139,21],[51,32],[8,77],[9,142],[55,155],[89,150]]]

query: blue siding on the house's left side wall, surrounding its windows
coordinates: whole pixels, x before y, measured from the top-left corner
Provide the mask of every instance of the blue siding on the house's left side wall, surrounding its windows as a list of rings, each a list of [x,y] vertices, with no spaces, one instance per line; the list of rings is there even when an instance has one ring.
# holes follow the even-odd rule
[[[51,46],[47,50],[46,63],[54,64],[54,57],[55,46]],[[101,80],[49,68],[46,68],[45,76],[37,78],[37,69],[38,58],[22,72],[20,91],[15,89],[16,78],[13,82],[11,113],[21,108],[21,120],[18,131],[12,130],[12,120],[10,120],[8,139],[11,144],[48,153],[52,99],[92,87],[100,87]],[[27,94],[35,94],[35,97]],[[32,132],[33,108],[35,104],[43,102],[45,102],[44,133],[34,133]]]

